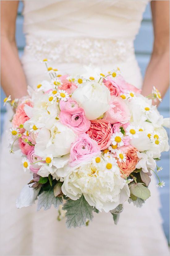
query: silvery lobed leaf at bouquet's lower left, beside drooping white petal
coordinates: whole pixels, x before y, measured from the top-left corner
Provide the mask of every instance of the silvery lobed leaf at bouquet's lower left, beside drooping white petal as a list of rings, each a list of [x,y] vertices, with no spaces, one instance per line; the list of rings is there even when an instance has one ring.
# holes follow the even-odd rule
[[[57,208],[60,204],[62,204],[62,202],[62,197],[54,196],[53,189],[43,191],[38,196],[37,211],[39,211],[42,207],[44,207],[44,210],[48,210],[51,208],[52,204],[55,208]]]

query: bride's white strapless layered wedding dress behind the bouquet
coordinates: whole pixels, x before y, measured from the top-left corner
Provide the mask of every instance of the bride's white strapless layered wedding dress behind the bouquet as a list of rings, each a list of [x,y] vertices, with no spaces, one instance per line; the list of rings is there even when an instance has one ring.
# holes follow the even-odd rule
[[[140,88],[141,73],[133,41],[147,1],[24,1],[27,46],[22,57],[28,85],[49,79],[45,65],[75,72],[91,64],[102,72],[119,67],[127,82]],[[146,38],[147,40],[147,38]],[[11,111],[4,130],[11,125]],[[125,203],[119,223],[111,214],[94,214],[88,227],[67,229],[58,212],[36,212],[36,205],[16,209],[15,201],[30,174],[21,167],[19,152],[9,154],[8,136],[1,153],[1,255],[169,255],[159,213],[159,194],[152,175],[151,197],[142,208]]]

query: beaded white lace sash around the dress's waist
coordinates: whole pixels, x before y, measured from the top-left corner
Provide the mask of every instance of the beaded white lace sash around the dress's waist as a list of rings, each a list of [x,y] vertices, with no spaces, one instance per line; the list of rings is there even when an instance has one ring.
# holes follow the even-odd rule
[[[118,63],[134,54],[131,41],[93,38],[27,38],[25,50],[40,61],[47,58],[58,63],[74,62],[83,65],[110,61]]]

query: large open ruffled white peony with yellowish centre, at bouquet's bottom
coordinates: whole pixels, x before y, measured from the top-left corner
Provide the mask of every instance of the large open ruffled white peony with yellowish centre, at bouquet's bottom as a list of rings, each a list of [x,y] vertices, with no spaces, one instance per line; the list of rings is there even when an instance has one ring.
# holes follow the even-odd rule
[[[130,196],[128,184],[121,178],[115,164],[112,169],[104,165],[97,168],[93,163],[82,164],[64,177],[62,192],[72,200],[79,199],[83,194],[91,206],[105,212],[115,209]]]

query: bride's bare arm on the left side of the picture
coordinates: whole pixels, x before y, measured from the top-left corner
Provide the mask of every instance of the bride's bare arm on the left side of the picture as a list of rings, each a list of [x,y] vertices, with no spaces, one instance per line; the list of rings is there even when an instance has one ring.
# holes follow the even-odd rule
[[[1,85],[12,99],[27,95],[27,83],[15,43],[19,1],[1,1]]]

